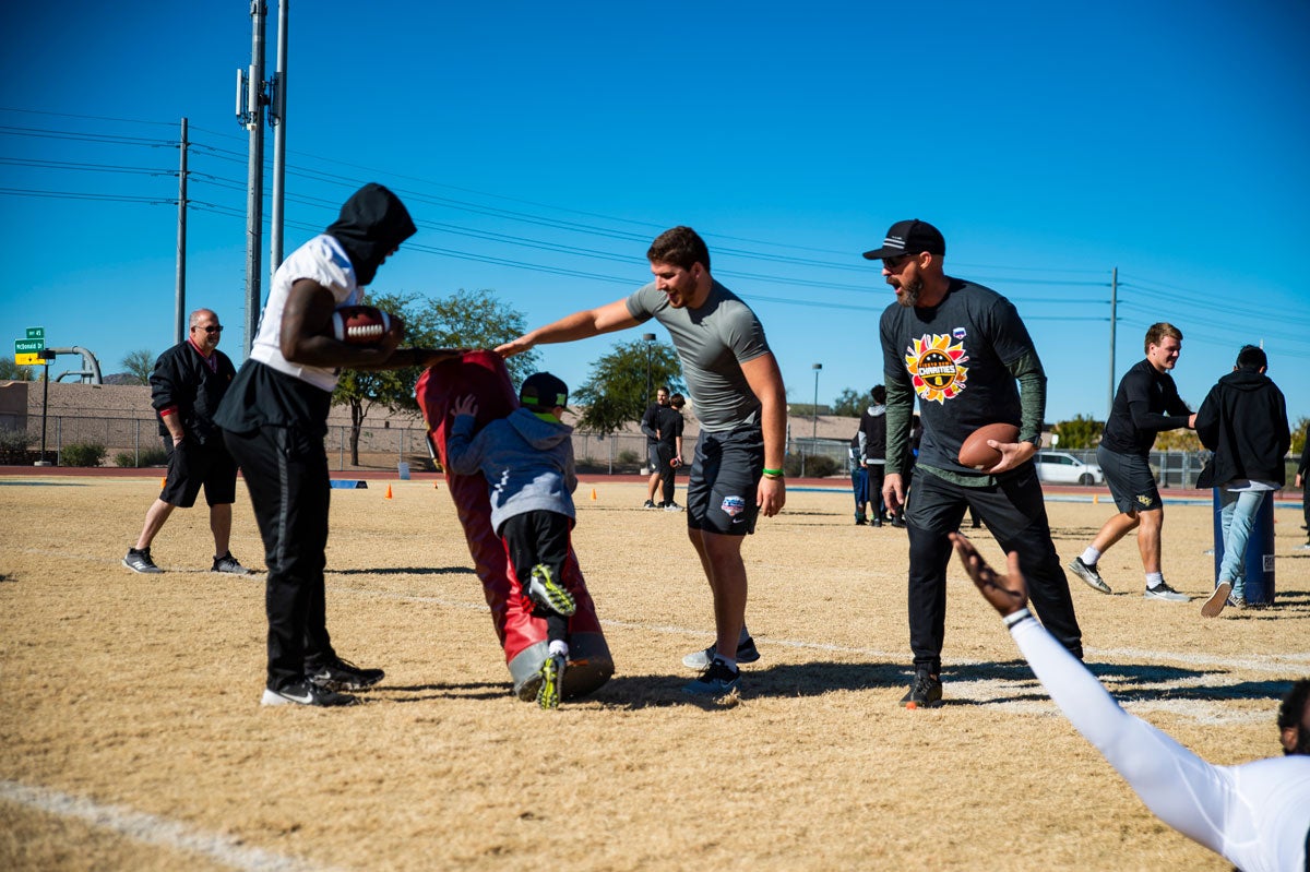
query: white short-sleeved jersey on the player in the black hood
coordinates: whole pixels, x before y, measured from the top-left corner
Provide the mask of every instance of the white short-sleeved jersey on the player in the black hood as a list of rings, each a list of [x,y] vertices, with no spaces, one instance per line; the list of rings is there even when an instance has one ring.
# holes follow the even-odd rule
[[[274,274],[269,302],[263,306],[259,329],[250,347],[250,359],[331,393],[337,389],[335,369],[293,364],[282,356],[282,313],[291,296],[291,285],[300,279],[309,279],[328,288],[338,306],[356,305],[363,300],[355,282],[355,267],[341,242],[326,233],[316,236],[292,251]]]

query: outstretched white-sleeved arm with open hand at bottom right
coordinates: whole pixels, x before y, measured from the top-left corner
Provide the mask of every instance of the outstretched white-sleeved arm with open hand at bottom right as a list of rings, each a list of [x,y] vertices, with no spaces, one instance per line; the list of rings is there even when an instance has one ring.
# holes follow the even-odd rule
[[[1028,590],[1017,553],[1009,555],[1007,575],[998,575],[967,538],[951,533],[951,542],[982,598],[1005,618],[1038,681],[1069,723],[1100,750],[1159,820],[1229,856],[1221,827],[1241,801],[1234,796],[1231,770],[1207,763],[1119,707],[1095,676],[1027,613]]]

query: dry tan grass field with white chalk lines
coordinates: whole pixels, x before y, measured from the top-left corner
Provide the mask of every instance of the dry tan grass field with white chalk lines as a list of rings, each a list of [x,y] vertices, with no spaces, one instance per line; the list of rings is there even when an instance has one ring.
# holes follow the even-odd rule
[[[0,868],[1229,868],[1069,727],[954,562],[946,704],[901,708],[904,532],[854,526],[845,492],[793,491],[745,543],[762,659],[702,706],[680,693],[713,635],[684,517],[584,482],[617,673],[542,712],[510,695],[444,483],[386,484],[333,491],[328,609],[342,656],[388,676],[314,711],[258,704],[262,576],[207,572],[203,508],[141,576],[119,562],[159,479],[0,478]],[[1112,511],[1081,499],[1048,503],[1066,560]],[[1273,609],[1145,601],[1131,541],[1102,560],[1114,596],[1072,581],[1093,670],[1220,763],[1279,753],[1276,700],[1310,674],[1310,551],[1276,516]],[[1166,577],[1195,597],[1210,538],[1208,507],[1166,508]],[[244,486],[232,550],[263,566]]]

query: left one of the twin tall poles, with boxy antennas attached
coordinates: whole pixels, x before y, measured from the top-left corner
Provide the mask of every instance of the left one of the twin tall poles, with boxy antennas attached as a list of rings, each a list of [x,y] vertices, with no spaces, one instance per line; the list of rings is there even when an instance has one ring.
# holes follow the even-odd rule
[[[263,0],[250,0],[250,68],[237,71],[237,118],[249,134],[246,160],[246,312],[245,354],[250,355],[259,326],[261,282],[259,249],[263,245],[263,107],[267,93],[263,81],[263,25],[269,8]]]

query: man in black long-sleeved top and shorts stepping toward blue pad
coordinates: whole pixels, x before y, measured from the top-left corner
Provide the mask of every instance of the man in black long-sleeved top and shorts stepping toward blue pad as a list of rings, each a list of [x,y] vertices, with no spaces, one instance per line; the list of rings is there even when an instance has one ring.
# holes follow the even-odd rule
[[[1132,530],[1137,530],[1137,550],[1146,572],[1148,600],[1187,602],[1191,597],[1165,583],[1161,571],[1159,543],[1165,526],[1165,503],[1155,487],[1150,469],[1150,449],[1155,435],[1166,429],[1192,427],[1196,415],[1187,407],[1170,371],[1183,351],[1183,331],[1159,322],[1146,331],[1146,359],[1138,361],[1119,380],[1115,402],[1110,409],[1106,432],[1096,448],[1096,462],[1106,474],[1106,484],[1115,498],[1119,513],[1106,521],[1096,538],[1073,559],[1069,568],[1094,590],[1110,593],[1096,562],[1110,547]],[[1138,529],[1140,528],[1140,529]]]

